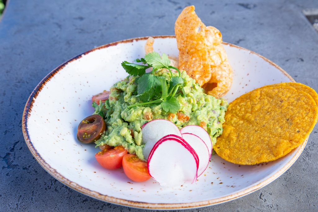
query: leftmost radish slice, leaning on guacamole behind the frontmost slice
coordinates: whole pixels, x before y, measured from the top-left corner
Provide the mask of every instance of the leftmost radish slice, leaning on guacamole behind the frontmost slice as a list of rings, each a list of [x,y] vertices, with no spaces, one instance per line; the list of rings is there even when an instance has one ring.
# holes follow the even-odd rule
[[[145,144],[143,148],[143,156],[148,159],[151,149],[156,142],[169,134],[174,134],[182,138],[179,128],[166,119],[155,119],[142,125],[142,142]]]

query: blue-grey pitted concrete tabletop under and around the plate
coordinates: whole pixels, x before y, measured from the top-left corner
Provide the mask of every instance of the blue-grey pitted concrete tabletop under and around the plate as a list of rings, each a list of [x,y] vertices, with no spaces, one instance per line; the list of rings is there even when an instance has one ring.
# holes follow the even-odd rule
[[[116,40],[172,35],[190,4],[224,41],[264,55],[318,90],[318,33],[301,13],[318,8],[316,0],[10,0],[0,22],[0,211],[140,211],[80,194],[46,173],[25,145],[22,112],[33,88],[65,60]],[[191,211],[318,211],[317,131],[279,179],[238,200]]]

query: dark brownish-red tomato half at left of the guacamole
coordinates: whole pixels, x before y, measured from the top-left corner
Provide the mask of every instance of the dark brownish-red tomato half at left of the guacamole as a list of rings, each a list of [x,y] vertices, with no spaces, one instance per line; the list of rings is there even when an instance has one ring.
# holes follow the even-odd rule
[[[100,115],[84,118],[77,128],[77,139],[84,144],[94,143],[106,130],[106,123]]]

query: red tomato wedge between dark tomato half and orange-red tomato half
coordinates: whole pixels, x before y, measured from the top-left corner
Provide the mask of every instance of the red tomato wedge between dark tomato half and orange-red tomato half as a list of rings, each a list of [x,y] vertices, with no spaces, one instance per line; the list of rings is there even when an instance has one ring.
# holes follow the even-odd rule
[[[121,167],[122,159],[127,153],[123,146],[116,146],[114,149],[104,149],[97,152],[95,158],[100,166],[106,169],[118,169]]]

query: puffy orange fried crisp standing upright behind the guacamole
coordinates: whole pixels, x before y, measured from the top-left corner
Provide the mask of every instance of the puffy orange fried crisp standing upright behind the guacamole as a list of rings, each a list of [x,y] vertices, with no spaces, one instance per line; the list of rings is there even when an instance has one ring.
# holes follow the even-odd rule
[[[231,88],[232,67],[222,46],[221,32],[205,26],[194,10],[194,6],[184,8],[176,20],[179,67],[209,95],[219,98]]]

